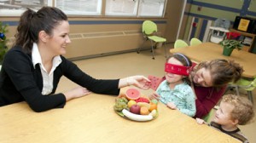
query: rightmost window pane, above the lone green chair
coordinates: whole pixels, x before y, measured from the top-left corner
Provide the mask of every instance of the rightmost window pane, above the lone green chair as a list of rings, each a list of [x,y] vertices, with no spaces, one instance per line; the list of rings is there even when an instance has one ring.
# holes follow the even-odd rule
[[[138,16],[162,17],[165,9],[165,0],[140,0]]]

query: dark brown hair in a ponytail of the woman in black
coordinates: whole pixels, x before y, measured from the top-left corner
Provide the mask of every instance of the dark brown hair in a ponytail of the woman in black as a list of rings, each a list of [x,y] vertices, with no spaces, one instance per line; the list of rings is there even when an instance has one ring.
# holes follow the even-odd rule
[[[38,43],[38,33],[45,31],[52,35],[55,26],[63,20],[67,20],[67,15],[61,9],[43,7],[38,12],[27,9],[20,17],[15,45],[21,46],[24,52],[31,53],[32,44]]]

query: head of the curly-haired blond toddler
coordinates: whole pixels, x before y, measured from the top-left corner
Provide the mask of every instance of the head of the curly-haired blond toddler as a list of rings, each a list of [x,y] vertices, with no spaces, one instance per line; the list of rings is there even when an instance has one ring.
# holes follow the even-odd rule
[[[253,104],[245,97],[234,94],[224,95],[213,119],[219,124],[245,125],[254,117]]]

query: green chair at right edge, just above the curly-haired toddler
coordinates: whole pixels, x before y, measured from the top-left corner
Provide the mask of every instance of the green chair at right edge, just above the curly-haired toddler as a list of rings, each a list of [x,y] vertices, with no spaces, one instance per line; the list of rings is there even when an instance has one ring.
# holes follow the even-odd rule
[[[256,77],[253,81],[241,78],[236,83],[229,83],[228,88],[236,88],[236,94],[239,95],[239,89],[244,89],[247,91],[248,99],[253,103],[253,89],[256,87]]]

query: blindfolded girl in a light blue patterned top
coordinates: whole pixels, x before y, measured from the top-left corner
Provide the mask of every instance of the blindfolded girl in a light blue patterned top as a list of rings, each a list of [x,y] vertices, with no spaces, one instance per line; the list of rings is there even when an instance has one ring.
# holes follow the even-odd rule
[[[150,99],[160,100],[173,110],[179,110],[189,117],[195,116],[195,94],[189,86],[189,72],[192,62],[184,54],[173,54],[166,62],[165,80],[160,83]]]

